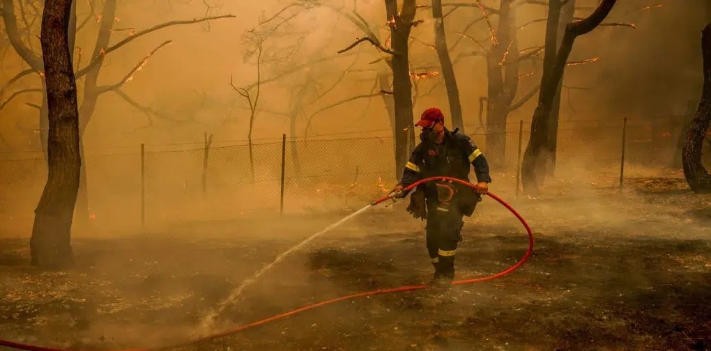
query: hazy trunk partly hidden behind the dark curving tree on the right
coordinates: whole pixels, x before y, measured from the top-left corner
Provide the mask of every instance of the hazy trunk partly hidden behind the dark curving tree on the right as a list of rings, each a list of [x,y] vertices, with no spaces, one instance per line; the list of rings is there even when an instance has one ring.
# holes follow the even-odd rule
[[[565,35],[565,26],[572,22],[574,19],[575,11],[575,0],[569,0],[560,9],[560,19],[558,21],[558,27],[556,31],[556,44],[555,52],[560,48],[560,43],[562,42],[563,36]],[[548,43],[546,43],[548,45]],[[547,175],[555,175],[555,155],[557,153],[558,146],[558,121],[560,120],[560,95],[563,88],[563,79],[561,77],[560,83],[558,84],[557,90],[555,91],[555,97],[553,97],[553,107],[550,110],[550,121],[548,126],[548,161],[547,161]]]

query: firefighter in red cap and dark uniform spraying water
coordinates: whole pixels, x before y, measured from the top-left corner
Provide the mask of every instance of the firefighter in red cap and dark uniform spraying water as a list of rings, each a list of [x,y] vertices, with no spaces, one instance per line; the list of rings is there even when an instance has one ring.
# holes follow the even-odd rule
[[[459,183],[433,181],[418,185],[410,195],[407,211],[427,221],[427,251],[434,266],[431,284],[449,286],[454,280],[454,257],[464,227],[462,219],[474,213],[476,203],[488,192],[491,183],[488,163],[469,136],[444,127],[440,109],[424,110],[415,125],[422,127],[421,142],[415,146],[402,179],[392,190],[397,198],[405,198],[407,193],[402,189],[422,178],[442,175],[469,182],[470,165],[474,166],[478,182],[474,190]]]

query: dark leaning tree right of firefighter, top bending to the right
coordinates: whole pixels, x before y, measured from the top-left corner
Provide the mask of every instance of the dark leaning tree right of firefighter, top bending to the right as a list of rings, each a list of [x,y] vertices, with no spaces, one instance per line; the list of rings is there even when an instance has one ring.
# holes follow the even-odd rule
[[[567,1],[567,0],[563,0]],[[543,75],[541,77],[540,93],[538,95],[538,106],[533,112],[531,121],[530,138],[523,153],[521,163],[521,183],[523,191],[529,195],[536,195],[539,192],[539,185],[545,181],[547,162],[550,159],[548,154],[550,136],[550,113],[555,99],[555,92],[561,84],[563,72],[567,65],[567,59],[572,50],[575,38],[591,32],[597,28],[612,10],[616,0],[602,0],[597,9],[581,21],[568,23],[565,33],[560,43],[560,49],[555,55],[545,55],[555,57],[549,58],[543,63]],[[546,31],[546,50],[555,49],[555,36],[557,21],[560,18],[561,0],[550,0],[550,11],[548,13],[548,23],[552,23],[547,28],[554,28],[553,31]],[[548,43],[553,43],[549,45]]]

